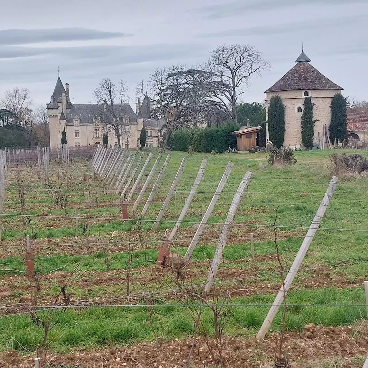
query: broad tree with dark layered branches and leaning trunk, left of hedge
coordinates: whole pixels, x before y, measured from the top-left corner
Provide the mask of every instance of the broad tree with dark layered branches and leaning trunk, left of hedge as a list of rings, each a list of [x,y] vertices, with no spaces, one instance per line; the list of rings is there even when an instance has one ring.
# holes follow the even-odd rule
[[[178,64],[156,69],[138,86],[138,92],[153,102],[152,117],[164,119],[166,137],[162,151],[174,130],[180,127],[197,127],[204,119],[204,111],[215,102],[210,96],[215,93],[217,82],[213,73],[204,69]]]

